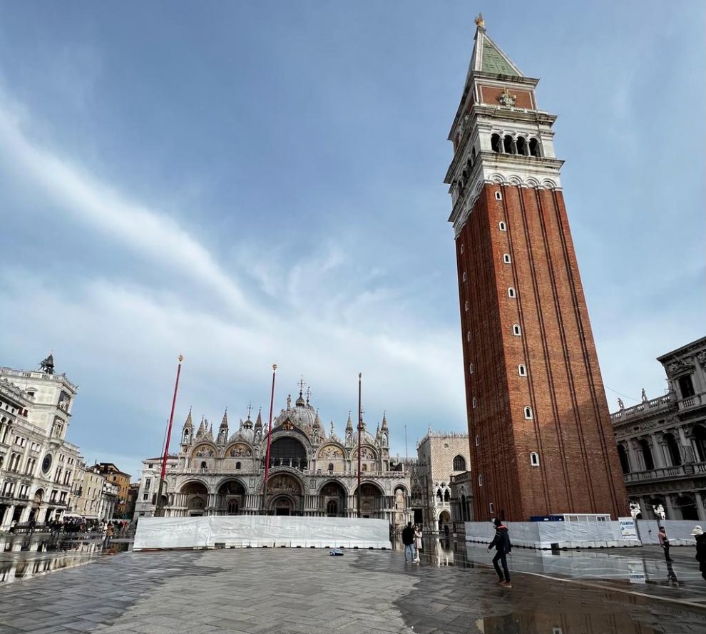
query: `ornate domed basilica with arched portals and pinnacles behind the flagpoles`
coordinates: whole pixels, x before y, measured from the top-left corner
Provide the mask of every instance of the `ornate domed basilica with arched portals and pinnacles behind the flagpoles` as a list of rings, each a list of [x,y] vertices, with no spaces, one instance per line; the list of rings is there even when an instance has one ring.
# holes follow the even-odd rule
[[[349,414],[342,437],[325,429],[300,390],[272,421],[270,470],[265,484],[267,426],[248,414],[233,432],[223,414],[218,429],[206,419],[195,427],[189,412],[180,450],[168,459],[163,487],[165,516],[272,515],[357,516],[358,431]],[[392,526],[407,516],[409,470],[391,461],[387,416],[371,434],[361,432],[360,505],[363,517]],[[152,514],[161,459],[144,461],[136,515]]]

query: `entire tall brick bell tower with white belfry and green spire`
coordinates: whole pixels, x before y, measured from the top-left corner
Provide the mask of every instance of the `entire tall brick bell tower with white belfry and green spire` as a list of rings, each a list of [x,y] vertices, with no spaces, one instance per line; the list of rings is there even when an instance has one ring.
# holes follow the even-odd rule
[[[446,174],[476,521],[629,516],[554,155],[556,115],[482,16]]]

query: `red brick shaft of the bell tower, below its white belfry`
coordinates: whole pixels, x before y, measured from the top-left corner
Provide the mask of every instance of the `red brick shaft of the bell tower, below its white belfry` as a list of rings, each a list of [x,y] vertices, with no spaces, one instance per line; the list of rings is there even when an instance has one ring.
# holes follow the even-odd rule
[[[499,230],[500,222],[507,231]],[[503,262],[505,253],[510,264]],[[625,515],[623,476],[561,192],[485,185],[456,240],[456,255],[476,519]],[[508,287],[515,288],[515,299]],[[513,324],[521,336],[513,334]],[[528,377],[519,376],[518,364]],[[526,406],[531,420],[524,417]],[[540,466],[530,464],[533,451]]]

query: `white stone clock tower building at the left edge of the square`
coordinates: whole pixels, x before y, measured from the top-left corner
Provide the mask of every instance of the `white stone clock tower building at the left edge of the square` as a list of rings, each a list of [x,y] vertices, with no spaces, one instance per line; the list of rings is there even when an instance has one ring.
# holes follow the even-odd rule
[[[0,368],[0,531],[69,508],[81,456],[65,436],[77,392],[51,355],[39,372]]]

